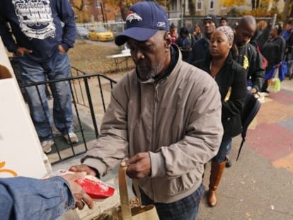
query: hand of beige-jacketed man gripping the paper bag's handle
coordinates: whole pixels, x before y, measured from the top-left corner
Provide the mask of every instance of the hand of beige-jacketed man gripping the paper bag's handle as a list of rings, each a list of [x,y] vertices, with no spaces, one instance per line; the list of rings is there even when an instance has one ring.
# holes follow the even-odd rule
[[[142,179],[151,174],[151,158],[147,152],[136,154],[124,163],[127,165],[126,173],[132,179]]]

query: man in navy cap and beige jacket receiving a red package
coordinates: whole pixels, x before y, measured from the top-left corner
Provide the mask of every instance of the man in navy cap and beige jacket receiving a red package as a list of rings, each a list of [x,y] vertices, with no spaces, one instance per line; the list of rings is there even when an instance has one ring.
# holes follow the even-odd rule
[[[154,204],[160,219],[194,220],[204,164],[223,134],[219,89],[182,61],[163,8],[139,2],[126,22],[115,43],[127,43],[136,68],[113,89],[96,148],[71,170],[100,177],[129,158],[127,175],[139,180],[144,205]]]

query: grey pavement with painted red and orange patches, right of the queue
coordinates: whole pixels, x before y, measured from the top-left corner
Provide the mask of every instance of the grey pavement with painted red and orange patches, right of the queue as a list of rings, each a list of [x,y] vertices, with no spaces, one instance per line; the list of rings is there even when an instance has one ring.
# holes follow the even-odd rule
[[[265,98],[248,130],[239,161],[241,138],[233,141],[233,166],[224,170],[219,204],[200,204],[197,220],[293,219],[293,81],[282,82],[282,91]],[[53,166],[67,168],[78,160]],[[205,172],[208,185],[209,164]]]

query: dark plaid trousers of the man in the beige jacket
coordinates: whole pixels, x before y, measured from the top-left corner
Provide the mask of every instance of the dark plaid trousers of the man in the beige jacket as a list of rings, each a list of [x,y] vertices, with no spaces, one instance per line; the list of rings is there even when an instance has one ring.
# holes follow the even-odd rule
[[[140,193],[142,204],[154,204],[160,220],[195,220],[197,219],[200,200],[205,193],[205,186],[201,184],[191,195],[171,203],[154,202],[142,189],[140,189]]]

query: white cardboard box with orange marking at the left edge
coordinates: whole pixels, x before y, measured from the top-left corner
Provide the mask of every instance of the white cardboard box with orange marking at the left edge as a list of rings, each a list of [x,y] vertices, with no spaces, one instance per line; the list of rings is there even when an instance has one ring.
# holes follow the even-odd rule
[[[0,54],[0,178],[42,178],[44,154],[1,37]]]

